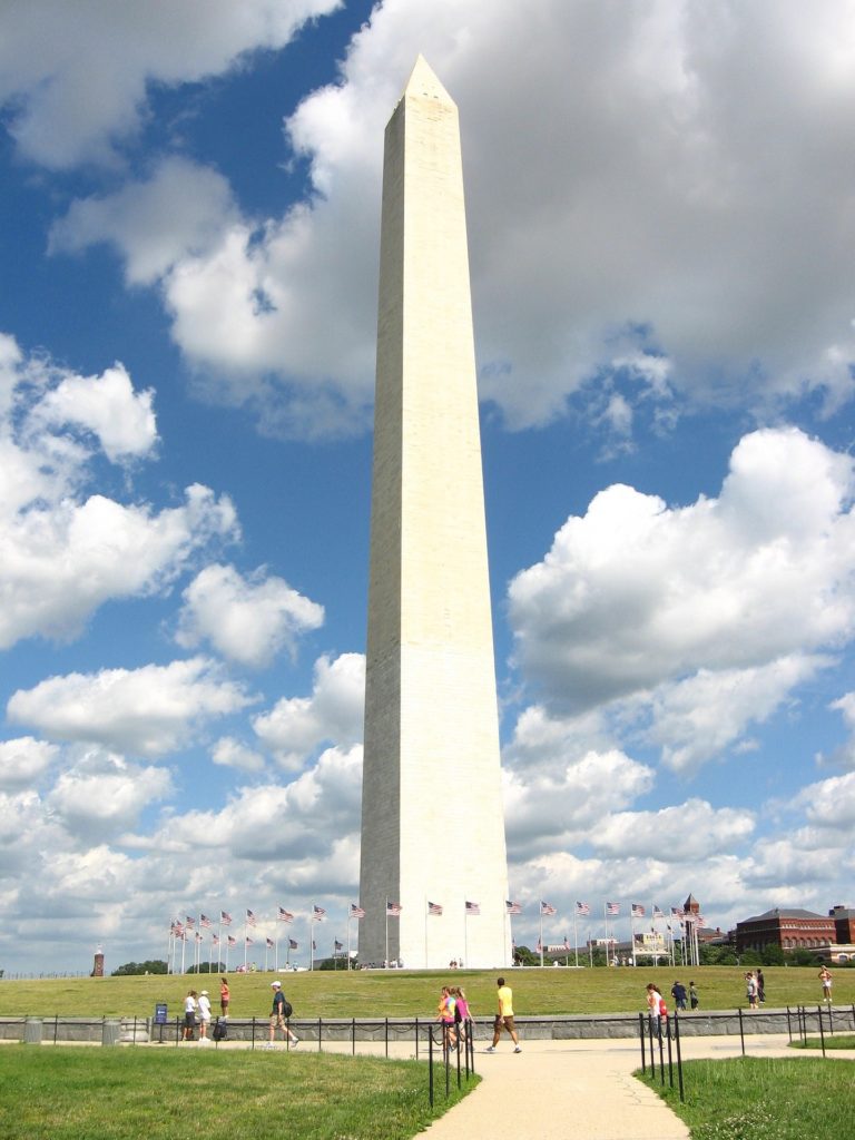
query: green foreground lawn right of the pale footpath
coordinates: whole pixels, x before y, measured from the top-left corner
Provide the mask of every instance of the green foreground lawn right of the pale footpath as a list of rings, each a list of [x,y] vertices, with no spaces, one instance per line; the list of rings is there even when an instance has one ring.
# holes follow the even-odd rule
[[[743,1057],[683,1065],[686,1101],[657,1092],[692,1140],[844,1140],[855,1119],[855,1065],[822,1058]]]

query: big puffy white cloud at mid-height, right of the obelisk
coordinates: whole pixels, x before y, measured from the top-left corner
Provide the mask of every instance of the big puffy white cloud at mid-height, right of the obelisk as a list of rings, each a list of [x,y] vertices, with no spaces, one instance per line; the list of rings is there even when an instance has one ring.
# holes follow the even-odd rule
[[[701,706],[740,684],[718,743],[855,632],[853,463],[795,429],[746,435],[717,499],[601,491],[508,589],[516,658],[555,709],[654,702],[675,766],[709,755]],[[749,707],[750,706],[750,707]],[[694,724],[693,724],[694,718]]]

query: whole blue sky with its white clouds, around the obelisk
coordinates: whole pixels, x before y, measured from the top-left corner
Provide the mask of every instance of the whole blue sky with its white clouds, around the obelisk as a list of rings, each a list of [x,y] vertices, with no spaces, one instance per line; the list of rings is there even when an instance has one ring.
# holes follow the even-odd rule
[[[555,942],[577,899],[853,902],[852,9],[6,6],[1,967],[220,910],[345,937],[420,51],[463,130],[516,940],[540,899]]]

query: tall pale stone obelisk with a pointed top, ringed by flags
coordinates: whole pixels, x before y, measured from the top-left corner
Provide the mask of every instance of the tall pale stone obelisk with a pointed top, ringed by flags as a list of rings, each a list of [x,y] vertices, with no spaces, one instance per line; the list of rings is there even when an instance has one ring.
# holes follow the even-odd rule
[[[359,959],[504,967],[507,860],[459,127],[421,56],[385,132],[374,417]]]

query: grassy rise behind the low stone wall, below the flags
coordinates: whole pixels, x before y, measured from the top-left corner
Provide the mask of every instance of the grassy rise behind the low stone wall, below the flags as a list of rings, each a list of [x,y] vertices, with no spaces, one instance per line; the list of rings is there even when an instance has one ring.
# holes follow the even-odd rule
[[[693,971],[701,1009],[744,1005],[743,970],[705,966]],[[769,967],[766,1004],[816,1005],[820,984],[813,967]],[[263,1017],[270,1009],[270,974],[230,974],[233,1017]],[[508,970],[518,1015],[624,1013],[644,1008],[644,986],[659,983],[668,996],[675,978],[687,983],[685,970],[670,969],[554,969]],[[473,1013],[487,1016],[496,1003],[495,971],[454,970],[340,970],[282,975],[283,988],[301,1017],[431,1017],[439,987],[451,982],[465,988]],[[170,1018],[182,1011],[187,990],[207,988],[214,1011],[219,1003],[219,978],[213,975],[160,975],[149,977],[50,978],[0,980],[0,1016],[148,1017],[156,1002],[165,1001]],[[834,971],[834,1003],[855,1002],[855,970]]]

